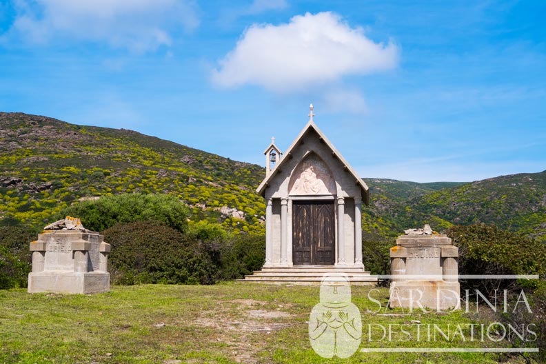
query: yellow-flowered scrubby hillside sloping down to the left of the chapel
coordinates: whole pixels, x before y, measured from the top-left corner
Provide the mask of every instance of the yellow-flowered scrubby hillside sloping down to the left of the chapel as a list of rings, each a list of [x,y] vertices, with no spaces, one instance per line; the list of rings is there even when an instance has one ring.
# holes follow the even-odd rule
[[[194,219],[262,230],[265,203],[253,191],[264,168],[131,130],[1,112],[0,165],[0,219],[44,225],[78,199],[162,192],[191,205]],[[244,219],[222,214],[223,206],[243,212]]]

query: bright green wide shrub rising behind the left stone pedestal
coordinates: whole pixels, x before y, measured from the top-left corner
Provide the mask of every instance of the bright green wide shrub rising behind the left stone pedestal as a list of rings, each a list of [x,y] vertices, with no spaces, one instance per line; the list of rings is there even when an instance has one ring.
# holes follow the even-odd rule
[[[71,205],[62,210],[56,219],[78,217],[85,228],[93,231],[103,231],[118,223],[161,221],[185,232],[189,214],[184,203],[167,194],[118,194]]]

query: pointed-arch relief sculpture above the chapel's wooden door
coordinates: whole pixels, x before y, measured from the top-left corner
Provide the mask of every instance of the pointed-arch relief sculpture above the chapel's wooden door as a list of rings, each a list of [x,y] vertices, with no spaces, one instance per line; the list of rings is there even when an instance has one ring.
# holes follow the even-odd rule
[[[336,183],[330,168],[313,153],[296,167],[288,184],[288,190],[291,196],[334,195]]]

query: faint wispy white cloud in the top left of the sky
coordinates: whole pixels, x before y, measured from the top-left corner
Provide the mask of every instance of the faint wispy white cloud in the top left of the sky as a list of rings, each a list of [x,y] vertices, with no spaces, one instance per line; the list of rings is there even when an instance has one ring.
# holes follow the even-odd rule
[[[9,35],[25,41],[96,41],[136,52],[170,45],[170,31],[199,24],[181,0],[18,0],[17,10]]]

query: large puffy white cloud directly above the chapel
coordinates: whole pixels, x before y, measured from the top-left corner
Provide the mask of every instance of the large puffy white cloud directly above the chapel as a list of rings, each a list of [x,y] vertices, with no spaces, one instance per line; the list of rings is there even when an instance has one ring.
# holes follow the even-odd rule
[[[307,13],[279,26],[252,25],[219,62],[212,80],[223,87],[254,84],[286,92],[392,69],[398,54],[394,43],[374,43],[337,14]]]

